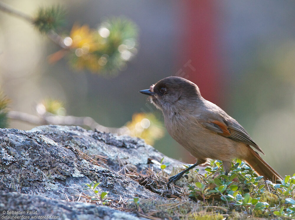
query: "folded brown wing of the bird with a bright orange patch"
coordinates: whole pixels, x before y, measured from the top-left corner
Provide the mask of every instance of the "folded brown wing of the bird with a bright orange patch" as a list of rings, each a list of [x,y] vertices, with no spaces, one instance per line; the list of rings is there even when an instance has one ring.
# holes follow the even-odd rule
[[[260,147],[253,141],[248,132],[237,122],[235,119],[219,121],[219,120],[209,120],[207,122],[201,123],[205,128],[213,131],[219,135],[225,136],[235,141],[240,141],[245,144],[253,146],[260,153],[265,155]]]

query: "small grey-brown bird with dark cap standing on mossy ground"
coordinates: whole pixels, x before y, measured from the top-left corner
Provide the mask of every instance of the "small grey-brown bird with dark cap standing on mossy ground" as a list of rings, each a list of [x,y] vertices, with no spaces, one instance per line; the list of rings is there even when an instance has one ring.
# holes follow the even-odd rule
[[[140,93],[148,95],[150,102],[162,111],[170,136],[197,159],[194,165],[170,177],[167,185],[207,159],[221,160],[226,175],[232,160],[241,159],[264,179],[282,179],[261,158],[259,153],[265,154],[248,132],[219,106],[204,99],[193,82],[169,76]]]

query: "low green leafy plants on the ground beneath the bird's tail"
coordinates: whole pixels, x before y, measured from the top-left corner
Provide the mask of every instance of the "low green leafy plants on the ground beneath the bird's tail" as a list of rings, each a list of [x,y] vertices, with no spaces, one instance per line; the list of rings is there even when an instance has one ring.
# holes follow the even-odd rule
[[[232,166],[228,176],[224,174],[221,161],[211,161],[211,166],[205,170],[207,174],[204,182],[196,182],[196,187],[189,186],[191,198],[202,196],[205,202],[205,197],[219,194],[220,199],[226,203],[228,213],[240,211],[259,217],[295,218],[295,174],[292,177],[286,176],[281,184],[262,182],[263,176],[257,176],[240,160]],[[214,187],[209,189],[209,185]],[[271,204],[266,201],[270,195],[276,198]]]

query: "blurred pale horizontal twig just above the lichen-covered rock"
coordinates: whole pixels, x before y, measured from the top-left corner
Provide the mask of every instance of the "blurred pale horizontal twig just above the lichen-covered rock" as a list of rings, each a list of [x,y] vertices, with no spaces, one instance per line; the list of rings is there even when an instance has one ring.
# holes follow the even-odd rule
[[[45,114],[43,116],[31,115],[21,111],[9,111],[7,114],[9,119],[24,121],[34,125],[59,124],[59,125],[76,125],[88,126],[90,129],[97,129],[102,132],[111,132],[119,135],[126,134],[128,128],[110,128],[98,124],[91,117],[76,117],[76,116],[60,116],[53,114]]]

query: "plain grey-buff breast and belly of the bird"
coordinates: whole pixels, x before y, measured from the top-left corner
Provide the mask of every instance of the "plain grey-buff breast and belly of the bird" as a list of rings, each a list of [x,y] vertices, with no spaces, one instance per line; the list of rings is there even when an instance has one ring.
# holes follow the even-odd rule
[[[173,114],[165,117],[165,126],[171,137],[199,159],[229,160],[241,157],[245,144],[220,136],[199,123],[197,115]]]

